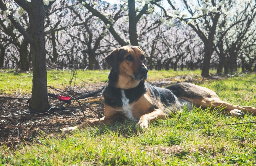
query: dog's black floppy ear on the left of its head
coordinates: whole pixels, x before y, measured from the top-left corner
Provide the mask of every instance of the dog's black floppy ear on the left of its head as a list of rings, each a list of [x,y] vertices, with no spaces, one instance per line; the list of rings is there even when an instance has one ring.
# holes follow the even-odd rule
[[[117,72],[119,69],[119,63],[118,63],[118,53],[119,50],[116,48],[114,49],[110,54],[108,54],[104,59],[107,62],[107,64],[115,71]]]

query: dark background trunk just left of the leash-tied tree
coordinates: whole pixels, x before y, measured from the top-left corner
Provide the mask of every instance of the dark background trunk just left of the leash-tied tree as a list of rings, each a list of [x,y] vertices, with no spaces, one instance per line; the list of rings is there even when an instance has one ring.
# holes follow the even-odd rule
[[[29,70],[29,60],[28,60],[28,41],[24,39],[20,45],[19,53],[20,53],[20,69],[23,71]]]

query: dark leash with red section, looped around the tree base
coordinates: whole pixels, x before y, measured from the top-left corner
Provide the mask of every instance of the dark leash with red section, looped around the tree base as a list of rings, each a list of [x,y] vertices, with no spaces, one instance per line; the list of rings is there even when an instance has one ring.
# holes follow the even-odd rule
[[[96,90],[96,91],[94,91],[94,92],[88,93],[88,94],[86,94],[86,95],[78,96],[78,97],[76,97],[76,98],[77,98],[77,99],[84,99],[84,98],[92,97],[92,96],[98,94],[99,92],[103,91],[103,89],[105,89],[105,86],[103,86],[103,87],[102,87],[101,89],[99,89],[99,90]],[[67,103],[67,104],[71,104],[71,100],[76,100],[75,98],[71,98],[71,97],[69,97],[69,96],[55,95],[55,94],[52,94],[52,93],[47,93],[47,95],[48,95],[49,97],[59,99],[59,100],[65,102],[65,103]],[[30,113],[42,113],[42,112],[38,112],[38,111],[36,111],[36,110],[33,110],[33,109],[29,106],[29,104],[30,104],[30,99],[31,99],[31,98],[29,98],[29,99],[27,100],[27,107],[29,108]],[[49,110],[45,111],[44,113],[47,113],[47,112],[56,112],[56,111],[63,111],[63,110],[65,110],[65,109],[66,109],[66,108],[65,108],[63,105],[61,105],[60,107],[51,107]]]

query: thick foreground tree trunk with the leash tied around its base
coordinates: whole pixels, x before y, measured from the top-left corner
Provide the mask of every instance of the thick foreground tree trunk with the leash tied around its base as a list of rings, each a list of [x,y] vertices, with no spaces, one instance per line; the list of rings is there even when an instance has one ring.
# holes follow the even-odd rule
[[[32,0],[33,7],[28,11],[30,35],[33,44],[30,45],[33,62],[33,87],[30,107],[38,112],[45,112],[50,108],[47,96],[47,71],[44,32],[44,4],[43,1]]]

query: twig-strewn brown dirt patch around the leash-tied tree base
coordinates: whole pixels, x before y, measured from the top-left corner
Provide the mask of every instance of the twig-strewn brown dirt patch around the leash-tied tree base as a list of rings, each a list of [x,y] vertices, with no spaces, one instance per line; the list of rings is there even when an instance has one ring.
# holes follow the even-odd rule
[[[78,97],[101,89],[104,85],[104,83],[100,83],[90,86],[89,90],[79,89],[80,92],[76,93],[76,96]],[[50,92],[60,94],[60,92],[54,90],[50,90]],[[61,95],[65,96],[64,94]],[[15,96],[0,95],[0,145],[5,144],[8,149],[16,149],[19,144],[33,143],[39,141],[38,137],[40,136],[45,137],[45,135],[54,132],[58,133],[61,128],[104,116],[102,92],[93,97],[79,100],[99,114],[82,105],[84,115],[77,101],[72,100],[71,104],[68,105],[52,97],[48,97],[51,107],[63,105],[65,110],[32,114],[27,107],[27,100],[29,98],[30,95],[24,94]]]

